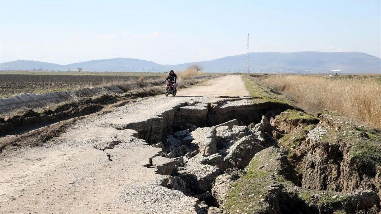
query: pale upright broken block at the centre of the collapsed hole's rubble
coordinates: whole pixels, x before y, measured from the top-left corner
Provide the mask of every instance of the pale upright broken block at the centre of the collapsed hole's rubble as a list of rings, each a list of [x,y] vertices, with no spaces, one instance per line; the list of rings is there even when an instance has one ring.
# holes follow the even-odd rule
[[[215,128],[197,128],[191,132],[192,144],[199,146],[199,153],[204,156],[213,155],[217,152],[217,136]]]

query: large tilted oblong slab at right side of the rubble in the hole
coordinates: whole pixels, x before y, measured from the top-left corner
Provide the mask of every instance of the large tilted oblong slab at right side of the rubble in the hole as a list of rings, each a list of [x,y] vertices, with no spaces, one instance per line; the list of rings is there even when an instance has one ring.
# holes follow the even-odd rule
[[[262,149],[264,147],[258,144],[257,139],[252,134],[242,137],[226,151],[227,155],[224,162],[227,168],[237,167],[243,169],[250,163],[255,153]]]

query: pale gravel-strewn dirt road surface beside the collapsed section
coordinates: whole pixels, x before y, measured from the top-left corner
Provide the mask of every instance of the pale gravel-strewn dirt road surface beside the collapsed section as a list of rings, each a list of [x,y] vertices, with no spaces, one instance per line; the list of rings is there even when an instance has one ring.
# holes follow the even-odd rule
[[[162,150],[141,136],[159,142],[180,103],[227,99],[218,96],[248,92],[240,76],[219,77],[90,115],[41,146],[4,150],[1,213],[197,213],[196,198],[163,187],[165,176],[147,167]]]

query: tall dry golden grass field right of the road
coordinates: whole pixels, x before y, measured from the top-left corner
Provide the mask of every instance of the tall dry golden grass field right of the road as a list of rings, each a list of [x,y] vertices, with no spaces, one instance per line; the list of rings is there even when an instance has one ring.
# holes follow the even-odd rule
[[[274,75],[261,80],[312,113],[327,109],[381,128],[381,83],[377,77],[327,78]]]

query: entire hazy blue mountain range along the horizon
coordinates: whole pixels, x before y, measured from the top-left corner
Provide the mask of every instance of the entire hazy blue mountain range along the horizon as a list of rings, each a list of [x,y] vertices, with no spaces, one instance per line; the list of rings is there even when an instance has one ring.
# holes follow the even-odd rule
[[[251,72],[327,73],[328,69],[342,73],[381,73],[381,59],[359,52],[291,52],[250,53]],[[205,72],[246,72],[247,54],[227,56],[211,61],[190,62],[178,65],[161,65],[152,61],[130,58],[100,59],[59,65],[33,60],[17,60],[0,64],[0,70],[54,70],[113,72],[165,72],[184,70],[189,65],[200,64]]]

